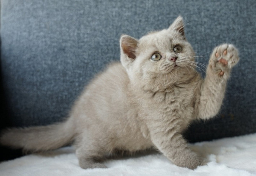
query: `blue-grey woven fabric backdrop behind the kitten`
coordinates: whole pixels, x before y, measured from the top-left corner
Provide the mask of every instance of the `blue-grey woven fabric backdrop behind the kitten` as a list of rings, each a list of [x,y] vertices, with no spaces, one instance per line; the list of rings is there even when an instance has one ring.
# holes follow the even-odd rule
[[[241,58],[219,115],[193,123],[186,138],[256,132],[254,1],[1,0],[1,8],[2,118],[9,126],[62,120],[84,85],[119,60],[121,34],[140,38],[181,15],[198,62],[207,65],[213,48],[225,42],[237,46]]]

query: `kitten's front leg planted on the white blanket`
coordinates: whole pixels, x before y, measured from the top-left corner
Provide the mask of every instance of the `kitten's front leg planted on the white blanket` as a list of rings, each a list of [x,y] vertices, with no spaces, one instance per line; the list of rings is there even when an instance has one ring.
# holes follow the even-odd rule
[[[174,121],[177,122],[177,120]],[[178,133],[178,125],[174,121],[172,125],[169,125],[168,122],[161,124],[151,122],[151,125],[149,125],[151,141],[175,165],[196,169],[197,166],[203,164],[203,158],[188,147],[183,136]]]

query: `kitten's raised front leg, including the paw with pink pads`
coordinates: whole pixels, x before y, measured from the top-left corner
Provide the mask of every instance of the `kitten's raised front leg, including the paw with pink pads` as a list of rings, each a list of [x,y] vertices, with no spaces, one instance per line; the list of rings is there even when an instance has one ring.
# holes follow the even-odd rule
[[[231,69],[238,61],[238,51],[233,45],[223,44],[213,50],[206,78],[200,85],[198,118],[211,118],[219,112]]]

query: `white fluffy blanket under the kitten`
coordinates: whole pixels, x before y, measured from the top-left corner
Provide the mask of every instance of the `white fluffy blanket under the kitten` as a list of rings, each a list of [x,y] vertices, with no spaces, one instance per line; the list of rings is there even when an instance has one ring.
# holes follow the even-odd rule
[[[151,153],[107,160],[107,169],[79,167],[73,147],[27,155],[0,163],[1,176],[256,176],[256,134],[192,145],[209,161],[196,170],[173,165],[162,154]]]

